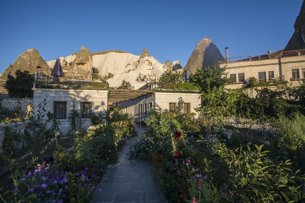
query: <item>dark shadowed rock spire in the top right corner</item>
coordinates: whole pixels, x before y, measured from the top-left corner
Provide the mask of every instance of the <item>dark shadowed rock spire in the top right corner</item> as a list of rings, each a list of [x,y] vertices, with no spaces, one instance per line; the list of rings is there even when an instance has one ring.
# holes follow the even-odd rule
[[[305,49],[305,0],[301,6],[299,16],[294,23],[294,33],[284,51]]]

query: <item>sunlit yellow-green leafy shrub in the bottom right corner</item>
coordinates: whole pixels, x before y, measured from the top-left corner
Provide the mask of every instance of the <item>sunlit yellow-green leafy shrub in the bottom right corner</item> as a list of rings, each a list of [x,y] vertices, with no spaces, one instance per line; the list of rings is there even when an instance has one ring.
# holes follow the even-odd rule
[[[304,198],[299,183],[305,180],[300,170],[293,171],[290,160],[281,161],[281,153],[268,156],[269,151],[262,151],[264,145],[255,145],[252,151],[248,145],[231,150],[216,142],[212,146],[213,154],[221,158],[228,167],[227,186],[232,191],[234,202],[287,202]]]

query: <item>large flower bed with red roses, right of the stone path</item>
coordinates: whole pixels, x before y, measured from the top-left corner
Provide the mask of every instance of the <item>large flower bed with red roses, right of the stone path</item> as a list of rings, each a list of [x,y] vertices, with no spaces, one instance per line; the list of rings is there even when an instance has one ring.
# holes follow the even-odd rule
[[[153,109],[130,156],[148,156],[169,202],[304,200],[302,143],[251,129],[211,134],[205,119]],[[213,125],[213,124],[212,124]],[[266,142],[269,142],[267,145]],[[288,147],[287,147],[288,146]]]

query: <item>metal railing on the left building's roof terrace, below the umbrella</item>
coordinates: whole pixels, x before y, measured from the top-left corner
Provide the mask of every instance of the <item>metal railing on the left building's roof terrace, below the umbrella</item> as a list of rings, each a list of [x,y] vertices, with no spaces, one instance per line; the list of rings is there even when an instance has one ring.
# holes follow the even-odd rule
[[[87,74],[87,73],[64,73],[64,77],[52,77],[43,73],[35,74],[35,82],[42,84],[66,84],[66,85],[92,85],[106,86],[106,75]]]

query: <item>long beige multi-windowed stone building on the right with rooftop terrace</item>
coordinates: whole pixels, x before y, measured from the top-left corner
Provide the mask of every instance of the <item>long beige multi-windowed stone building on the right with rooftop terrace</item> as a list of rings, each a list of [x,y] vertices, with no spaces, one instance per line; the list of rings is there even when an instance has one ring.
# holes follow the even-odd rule
[[[231,78],[231,84],[226,88],[245,87],[250,77],[263,83],[286,80],[296,86],[300,80],[305,79],[305,50],[226,58],[220,66],[225,67]]]

